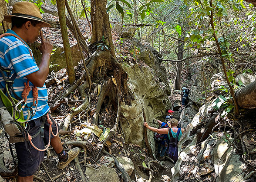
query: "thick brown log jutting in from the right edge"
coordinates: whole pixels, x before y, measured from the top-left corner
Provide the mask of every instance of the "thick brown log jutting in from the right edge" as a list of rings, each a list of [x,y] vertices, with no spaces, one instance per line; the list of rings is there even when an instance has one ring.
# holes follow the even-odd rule
[[[237,103],[245,109],[256,108],[256,80],[236,91]]]

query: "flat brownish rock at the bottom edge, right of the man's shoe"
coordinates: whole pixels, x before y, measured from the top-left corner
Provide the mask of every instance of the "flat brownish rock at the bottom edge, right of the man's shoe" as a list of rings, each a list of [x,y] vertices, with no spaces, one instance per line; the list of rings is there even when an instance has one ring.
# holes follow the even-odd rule
[[[89,182],[119,182],[115,169],[107,166],[101,166],[98,169],[86,167],[85,175]]]

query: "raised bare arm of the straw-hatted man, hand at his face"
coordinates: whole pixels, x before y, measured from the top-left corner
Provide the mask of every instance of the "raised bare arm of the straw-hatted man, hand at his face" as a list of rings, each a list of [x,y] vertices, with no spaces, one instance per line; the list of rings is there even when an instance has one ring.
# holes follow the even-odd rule
[[[41,62],[38,66],[39,70],[26,76],[26,78],[37,87],[43,87],[44,82],[47,79],[47,75],[49,73],[49,62],[53,48],[52,43],[48,38],[44,40],[41,35],[41,41],[42,44],[38,47],[40,52],[42,52]]]

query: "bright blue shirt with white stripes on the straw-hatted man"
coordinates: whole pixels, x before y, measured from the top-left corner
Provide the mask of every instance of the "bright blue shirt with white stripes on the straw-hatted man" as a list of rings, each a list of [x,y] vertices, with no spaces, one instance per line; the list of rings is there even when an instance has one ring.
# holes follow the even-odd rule
[[[18,36],[15,32],[8,29],[7,33],[12,33],[16,36]],[[32,50],[30,49],[31,53]],[[13,37],[13,36],[4,36],[0,39],[0,65],[3,68],[10,69],[11,74],[10,78],[15,72],[17,74],[17,77],[14,80],[13,83],[13,90],[15,93],[21,97],[21,93],[24,90],[24,83],[27,83],[26,76],[38,71],[39,68],[37,66],[37,63],[35,62],[34,58],[31,58],[29,48],[21,42],[19,39]],[[6,75],[6,73],[4,73]],[[7,75],[6,75],[7,76]],[[29,82],[29,86],[31,88],[28,96],[27,96],[27,106],[31,107],[33,105],[33,93],[32,88],[34,85]],[[3,76],[0,74],[0,88],[3,90],[5,88],[5,81],[3,80]],[[37,112],[35,116],[32,118],[37,119],[38,117],[43,116],[49,111],[49,106],[47,104],[48,101],[48,95],[46,86],[38,89],[38,105],[37,105]],[[12,97],[15,98],[13,94],[11,94]],[[35,107],[33,106],[33,111]],[[24,118],[27,119],[27,109],[26,107],[23,110]]]

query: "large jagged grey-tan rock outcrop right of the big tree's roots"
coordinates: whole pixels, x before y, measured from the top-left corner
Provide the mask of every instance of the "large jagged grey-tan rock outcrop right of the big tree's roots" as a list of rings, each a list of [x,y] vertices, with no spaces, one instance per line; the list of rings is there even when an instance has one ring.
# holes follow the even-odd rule
[[[146,121],[151,125],[158,127],[157,123],[153,123],[153,119],[164,120],[165,111],[172,108],[172,104],[168,99],[170,87],[166,80],[165,71],[162,71],[158,59],[149,49],[133,39],[134,46],[140,50],[140,60],[143,66],[128,65],[123,63],[123,68],[129,75],[128,87],[131,90],[135,100],[131,105],[121,105],[121,126],[125,134],[125,141],[133,144],[144,145],[143,142],[143,111]],[[155,142],[153,140],[153,132],[148,132],[148,140],[152,150],[155,151]]]

